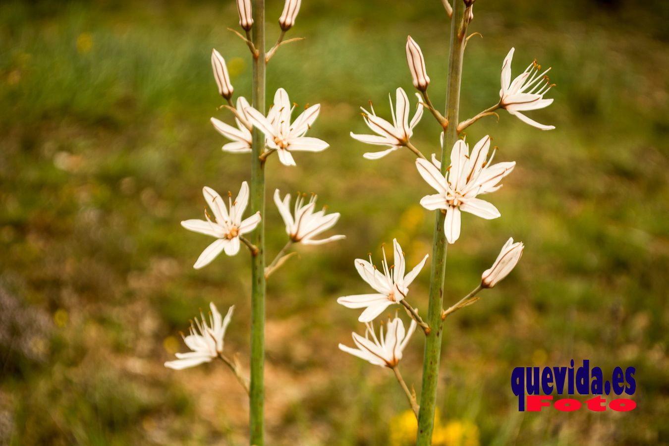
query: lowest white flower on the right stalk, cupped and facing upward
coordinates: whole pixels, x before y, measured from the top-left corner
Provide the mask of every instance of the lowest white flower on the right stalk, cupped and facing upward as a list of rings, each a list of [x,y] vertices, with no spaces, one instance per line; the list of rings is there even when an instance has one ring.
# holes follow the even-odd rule
[[[383,325],[377,338],[374,332],[373,324],[367,322],[367,330],[363,338],[357,333],[353,333],[353,342],[357,348],[351,348],[344,344],[339,344],[339,349],[351,353],[353,356],[371,362],[375,366],[393,368],[402,358],[402,352],[409,343],[411,335],[416,329],[415,320],[411,320],[409,331],[405,332],[402,320],[395,316],[395,319],[388,318],[388,323],[383,334]],[[370,339],[371,335],[371,339]]]

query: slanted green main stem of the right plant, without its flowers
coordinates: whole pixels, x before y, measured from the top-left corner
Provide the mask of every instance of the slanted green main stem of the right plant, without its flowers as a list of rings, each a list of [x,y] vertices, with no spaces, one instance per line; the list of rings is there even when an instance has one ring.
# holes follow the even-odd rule
[[[446,90],[446,119],[448,128],[444,137],[442,160],[447,160],[450,150],[458,139],[458,109],[460,107],[460,80],[462,78],[462,56],[466,21],[464,2],[454,0],[451,17],[450,58],[448,62],[448,87]],[[465,29],[461,29],[464,27]],[[442,173],[446,173],[448,162],[442,162]],[[434,245],[432,247],[432,269],[430,271],[429,303],[427,305],[427,324],[432,329],[425,336],[423,356],[423,383],[421,386],[420,411],[418,413],[417,446],[429,446],[432,443],[434,429],[434,411],[437,403],[439,382],[439,362],[442,353],[442,305],[444,301],[444,275],[446,273],[446,235],[444,219],[446,215],[437,212],[434,222]]]

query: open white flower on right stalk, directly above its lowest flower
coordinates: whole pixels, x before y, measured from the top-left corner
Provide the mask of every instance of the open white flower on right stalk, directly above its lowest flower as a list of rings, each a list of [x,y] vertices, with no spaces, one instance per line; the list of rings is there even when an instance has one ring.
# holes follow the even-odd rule
[[[383,274],[371,263],[371,255],[369,256],[369,261],[355,259],[355,268],[358,270],[360,277],[369,286],[374,288],[376,293],[343,296],[337,299],[337,303],[347,308],[365,308],[363,314],[358,318],[360,322],[373,320],[383,310],[388,308],[389,305],[398,304],[407,297],[409,285],[411,285],[411,282],[413,282],[427,260],[426,254],[420,263],[411,269],[407,275],[404,275],[404,253],[402,252],[402,247],[397,243],[397,239],[393,239],[393,252],[395,265],[389,267],[388,261],[385,258],[385,249],[383,249],[383,262],[381,263]]]

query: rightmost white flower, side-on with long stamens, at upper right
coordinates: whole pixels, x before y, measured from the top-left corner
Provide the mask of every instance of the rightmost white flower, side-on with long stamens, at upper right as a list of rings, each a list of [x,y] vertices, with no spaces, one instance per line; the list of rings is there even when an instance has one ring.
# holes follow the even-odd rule
[[[543,96],[551,90],[551,82],[545,76],[550,68],[539,74],[541,69],[537,61],[532,62],[520,76],[511,82],[511,60],[514,48],[511,48],[504,58],[502,65],[502,89],[500,90],[500,107],[517,116],[522,122],[541,128],[541,130],[553,130],[555,126],[539,124],[520,112],[539,110],[553,104],[553,99],[544,99]]]

